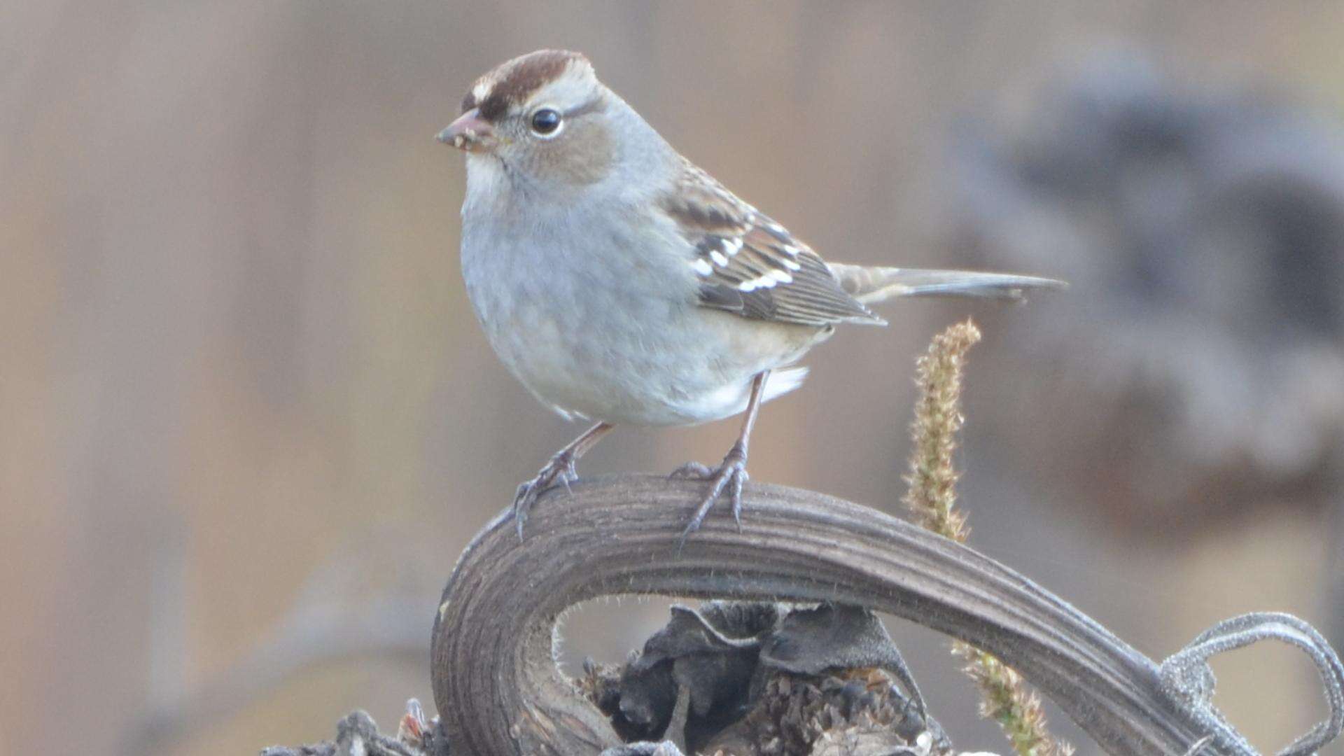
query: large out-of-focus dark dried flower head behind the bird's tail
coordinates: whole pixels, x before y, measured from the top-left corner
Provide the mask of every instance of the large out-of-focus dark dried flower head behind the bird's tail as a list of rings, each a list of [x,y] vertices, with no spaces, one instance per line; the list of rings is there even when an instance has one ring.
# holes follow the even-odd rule
[[[1339,124],[1137,56],[1099,59],[1025,112],[960,124],[952,246],[1073,291],[1000,339],[1034,378],[981,422],[1070,506],[1145,534],[1337,495]]]

